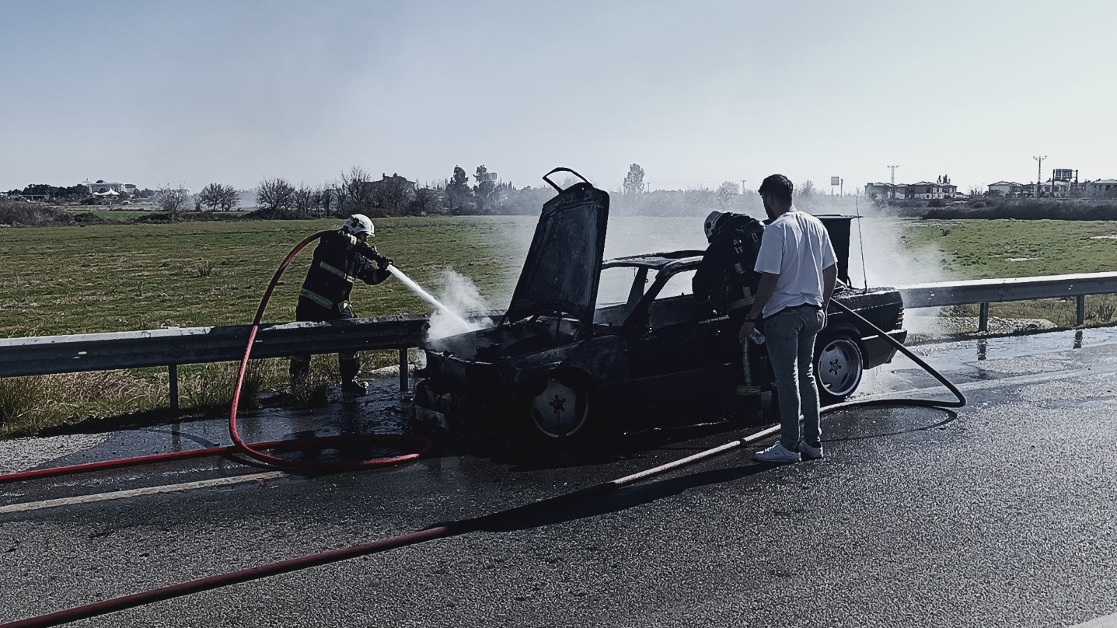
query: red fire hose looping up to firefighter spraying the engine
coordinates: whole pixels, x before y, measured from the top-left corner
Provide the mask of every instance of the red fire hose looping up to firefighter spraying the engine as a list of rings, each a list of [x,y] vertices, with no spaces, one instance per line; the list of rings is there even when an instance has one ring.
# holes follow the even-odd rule
[[[141,456],[139,458],[125,458],[122,460],[106,460],[102,463],[89,463],[84,465],[71,465],[66,467],[55,467],[49,469],[36,469],[29,472],[13,473],[8,475],[0,475],[0,484],[10,482],[20,482],[27,479],[37,479],[42,477],[54,477],[59,475],[70,475],[70,474],[87,473],[94,470],[146,465],[152,463],[166,463],[171,460],[202,458],[206,456],[216,456],[222,454],[244,454],[246,456],[256,458],[257,460],[267,463],[269,465],[284,468],[294,468],[308,472],[338,472],[338,470],[355,470],[370,467],[397,465],[400,463],[416,460],[419,457],[426,455],[428,451],[430,451],[431,447],[433,447],[433,444],[430,440],[419,436],[410,436],[402,434],[357,434],[357,435],[331,436],[325,438],[300,438],[296,440],[278,440],[271,443],[245,443],[245,440],[240,437],[240,432],[237,429],[237,407],[240,403],[240,390],[245,383],[245,374],[248,372],[248,361],[252,354],[252,345],[256,343],[256,333],[260,329],[260,321],[264,318],[264,312],[267,310],[268,301],[270,301],[271,298],[271,293],[275,292],[275,287],[279,283],[279,278],[283,276],[284,270],[287,269],[287,266],[289,266],[290,263],[295,259],[295,256],[297,256],[300,250],[306,248],[307,245],[330,232],[331,231],[319,231],[295,245],[295,248],[293,248],[290,253],[287,254],[287,258],[284,259],[283,264],[279,265],[279,268],[276,269],[275,276],[271,277],[271,283],[268,284],[268,288],[264,293],[264,298],[260,299],[260,306],[256,311],[256,317],[252,320],[252,326],[248,332],[248,344],[245,346],[245,356],[240,361],[240,371],[237,373],[237,386],[233,389],[232,393],[232,408],[229,412],[229,436],[232,437],[232,443],[233,443],[231,446],[213,447],[209,449],[197,449],[191,451],[175,451],[172,454],[157,454],[153,456]],[[262,449],[277,449],[280,447],[288,448],[298,446],[314,446],[321,448],[336,441],[343,441],[345,444],[367,443],[371,445],[411,446],[411,447],[418,447],[419,451],[413,454],[402,454],[399,456],[392,456],[388,458],[362,460],[357,463],[312,463],[304,460],[292,460],[265,454],[261,451]]]

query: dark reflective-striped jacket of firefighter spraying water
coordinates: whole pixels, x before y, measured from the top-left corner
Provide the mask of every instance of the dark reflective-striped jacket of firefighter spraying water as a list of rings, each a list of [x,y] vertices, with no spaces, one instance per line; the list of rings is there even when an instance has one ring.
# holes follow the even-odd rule
[[[342,312],[349,307],[355,279],[375,285],[388,278],[386,261],[388,258],[376,253],[376,247],[344,230],[322,236],[303,280],[299,302],[308,301],[331,312]]]

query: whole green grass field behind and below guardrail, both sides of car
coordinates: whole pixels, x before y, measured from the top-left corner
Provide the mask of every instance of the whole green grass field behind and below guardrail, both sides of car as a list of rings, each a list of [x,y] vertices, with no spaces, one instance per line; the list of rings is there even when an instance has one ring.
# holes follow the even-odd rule
[[[115,212],[114,212],[115,213]],[[665,219],[627,219],[624,230],[675,229]],[[690,225],[695,222],[695,225]],[[251,321],[275,268],[305,237],[337,220],[98,225],[0,229],[0,337],[133,331],[163,326],[239,325]],[[507,305],[535,219],[533,217],[400,218],[376,221],[381,253],[436,294],[447,268],[467,276],[494,307]],[[1117,269],[1117,223],[1048,220],[900,220],[904,247],[937,259],[955,278],[1014,277]],[[678,229],[700,237],[700,221]],[[614,231],[610,231],[613,234]],[[688,231],[689,234],[689,231]],[[672,235],[636,234],[651,250]],[[313,246],[313,245],[312,245]],[[674,248],[670,246],[662,248]],[[694,246],[694,245],[687,245]],[[608,249],[608,245],[607,245]],[[298,288],[311,259],[306,249],[276,291],[265,322],[294,320]],[[424,302],[399,283],[357,285],[361,316],[427,314]],[[1113,318],[1117,298],[1090,297],[1088,324]],[[961,307],[976,314],[976,306]],[[1073,324],[1073,302],[994,304],[993,316]],[[393,363],[394,352],[372,352],[367,368]],[[332,355],[315,359],[328,379]],[[228,403],[230,364],[180,369],[187,415],[214,413]],[[286,363],[261,361],[257,390],[283,387]],[[0,437],[37,434],[61,424],[136,415],[168,418],[165,369],[74,373],[0,380]]]

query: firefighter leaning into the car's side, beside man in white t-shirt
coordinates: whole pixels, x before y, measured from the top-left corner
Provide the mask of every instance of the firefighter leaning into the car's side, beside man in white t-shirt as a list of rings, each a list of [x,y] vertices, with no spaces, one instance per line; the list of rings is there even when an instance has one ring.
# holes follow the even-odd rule
[[[713,211],[705,221],[709,247],[693,279],[695,299],[704,318],[715,314],[729,317],[734,332],[745,323],[760,285],[760,274],[754,270],[756,253],[761,248],[764,226],[742,213]],[[736,386],[738,407],[755,412],[761,408],[760,374],[764,352],[753,342],[745,341],[739,351],[739,375]]]

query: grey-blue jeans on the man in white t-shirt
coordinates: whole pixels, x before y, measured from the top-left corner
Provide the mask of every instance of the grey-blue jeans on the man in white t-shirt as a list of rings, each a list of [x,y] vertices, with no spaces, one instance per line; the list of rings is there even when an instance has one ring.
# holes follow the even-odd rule
[[[799,450],[799,417],[803,416],[802,438],[818,446],[822,439],[819,424],[819,388],[814,381],[814,339],[825,324],[821,310],[802,306],[784,310],[764,320],[768,360],[780,396],[780,441]]]

